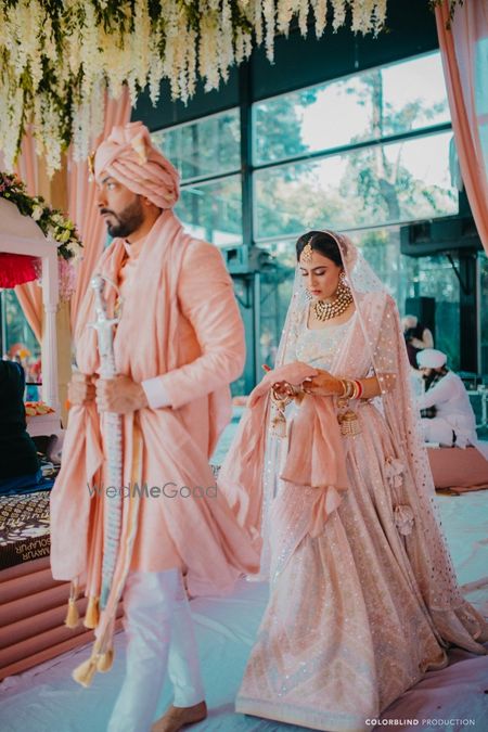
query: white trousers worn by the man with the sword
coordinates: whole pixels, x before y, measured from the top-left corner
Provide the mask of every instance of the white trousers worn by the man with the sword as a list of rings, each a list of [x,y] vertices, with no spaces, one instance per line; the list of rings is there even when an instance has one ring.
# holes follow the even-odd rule
[[[147,732],[168,671],[174,704],[205,698],[193,619],[179,569],[131,572],[124,592],[126,676],[108,732]]]

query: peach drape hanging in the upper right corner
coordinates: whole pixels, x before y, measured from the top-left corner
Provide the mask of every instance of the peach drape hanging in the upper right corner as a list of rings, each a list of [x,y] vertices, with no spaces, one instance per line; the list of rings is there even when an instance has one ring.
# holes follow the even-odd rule
[[[488,253],[488,3],[470,0],[436,8],[452,129],[461,174],[479,237]]]

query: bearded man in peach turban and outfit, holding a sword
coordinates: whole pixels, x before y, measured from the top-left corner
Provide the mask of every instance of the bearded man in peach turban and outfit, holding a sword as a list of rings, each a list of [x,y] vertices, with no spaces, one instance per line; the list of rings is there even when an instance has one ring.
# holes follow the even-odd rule
[[[231,279],[218,249],[185,234],[172,214],[178,174],[141,123],[115,127],[97,151],[98,205],[115,237],[95,269],[123,301],[114,349],[118,374],[105,380],[88,323],[93,295],[77,322],[77,363],[64,462],[52,495],[53,576],[85,586],[95,617],[91,657],[75,672],[88,685],[113,653],[124,589],[126,677],[110,732],[147,732],[166,669],[174,705],[153,730],[176,732],[206,717],[192,617],[184,591],[223,593],[258,556],[220,493],[208,459],[230,416],[229,384],[242,372],[244,334]],[[106,288],[112,305],[114,288]],[[112,293],[112,294],[111,294]],[[108,601],[103,580],[104,414],[123,415],[124,486],[159,489],[123,500],[120,541]],[[170,486],[170,490],[167,488]],[[166,490],[165,490],[166,488]],[[106,543],[106,542],[105,542]]]

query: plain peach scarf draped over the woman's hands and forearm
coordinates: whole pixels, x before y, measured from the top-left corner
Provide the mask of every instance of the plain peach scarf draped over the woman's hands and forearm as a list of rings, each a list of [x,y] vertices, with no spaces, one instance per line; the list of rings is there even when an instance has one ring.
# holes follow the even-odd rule
[[[240,524],[254,537],[257,548],[261,548],[261,486],[267,450],[264,425],[269,423],[271,409],[269,388],[273,381],[297,385],[316,374],[317,371],[305,363],[284,364],[267,374],[249,396],[251,406],[220,470],[218,485],[224,490]],[[304,396],[291,429],[281,478],[295,490],[312,488],[313,498],[309,512],[294,516],[296,501],[290,491],[283,491],[278,509],[280,515],[275,510],[272,521],[275,556],[283,556],[283,544],[291,536],[295,537],[294,545],[306,532],[319,536],[347,487],[345,455],[332,399]]]

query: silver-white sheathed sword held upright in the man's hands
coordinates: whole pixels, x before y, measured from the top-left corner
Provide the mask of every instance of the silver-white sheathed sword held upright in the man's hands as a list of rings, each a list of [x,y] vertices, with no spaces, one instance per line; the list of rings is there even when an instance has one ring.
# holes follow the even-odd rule
[[[110,282],[108,280],[106,281]],[[113,283],[111,282],[111,284]],[[97,314],[95,322],[90,323],[90,326],[94,328],[97,331],[100,354],[100,375],[102,378],[113,378],[117,375],[114,355],[114,329],[119,322],[119,318],[110,318],[107,314],[106,301],[103,297],[105,278],[101,274],[95,274],[91,279],[90,285],[94,291]],[[116,488],[115,497],[112,497],[106,501],[106,506],[104,509],[102,589],[100,595],[100,606],[103,609],[106,605],[112,587],[120,542],[123,515],[121,415],[115,412],[105,412],[102,421],[102,429],[106,448],[107,485],[115,486]]]

